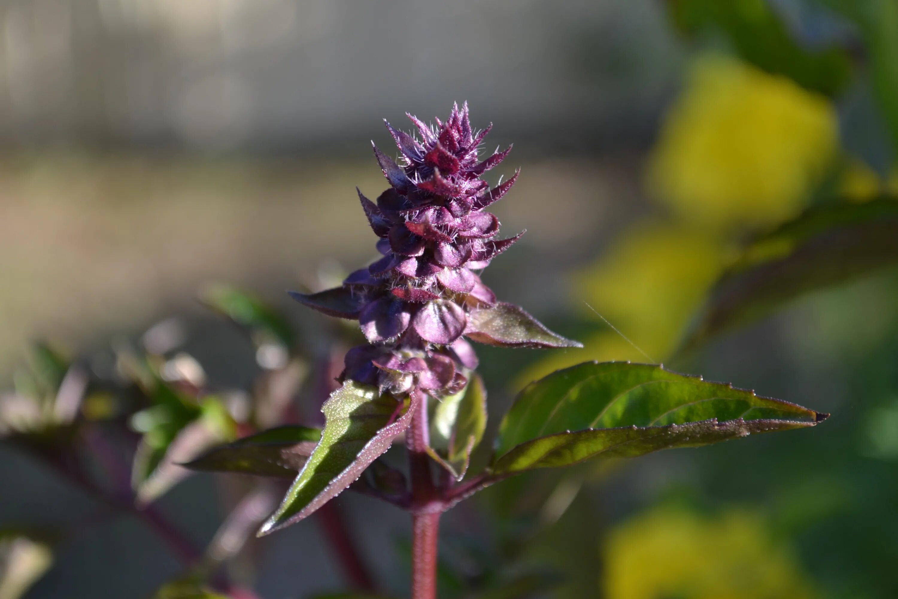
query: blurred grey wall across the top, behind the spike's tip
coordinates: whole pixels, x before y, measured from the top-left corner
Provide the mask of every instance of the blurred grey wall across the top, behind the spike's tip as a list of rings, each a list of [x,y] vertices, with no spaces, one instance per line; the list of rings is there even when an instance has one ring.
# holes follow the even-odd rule
[[[659,0],[0,0],[0,145],[339,148],[465,99],[500,135],[620,145],[670,35]]]

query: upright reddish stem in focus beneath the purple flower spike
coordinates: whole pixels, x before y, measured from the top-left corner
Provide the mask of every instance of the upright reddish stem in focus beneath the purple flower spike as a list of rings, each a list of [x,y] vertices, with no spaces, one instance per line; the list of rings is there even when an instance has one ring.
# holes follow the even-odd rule
[[[436,554],[444,506],[430,472],[427,398],[423,400],[407,433],[411,477],[411,598],[436,599]]]

